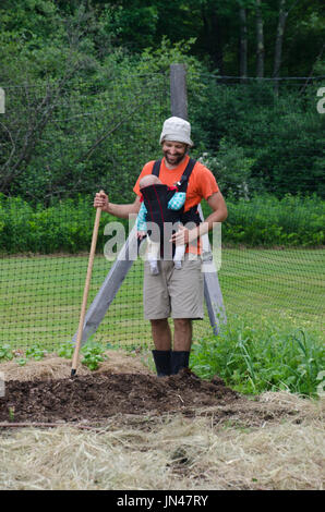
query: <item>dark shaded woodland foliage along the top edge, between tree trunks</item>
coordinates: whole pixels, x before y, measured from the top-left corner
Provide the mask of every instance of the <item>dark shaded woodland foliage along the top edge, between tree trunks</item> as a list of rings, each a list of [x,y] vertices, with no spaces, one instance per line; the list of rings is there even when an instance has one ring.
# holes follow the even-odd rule
[[[81,2],[58,1],[62,16],[77,12]],[[113,45],[140,53],[146,47],[156,49],[166,36],[172,42],[195,37],[192,52],[200,61],[218,68],[225,74],[238,75],[239,8],[246,10],[249,71],[256,64],[255,0],[89,0],[86,13],[95,11],[100,32],[96,41],[110,37]],[[262,3],[265,39],[265,71],[273,72],[275,35],[279,2]],[[282,46],[285,73],[308,76],[324,39],[324,13],[320,0],[287,1],[287,17]],[[99,36],[99,37],[98,37]],[[97,44],[98,44],[97,42]]]

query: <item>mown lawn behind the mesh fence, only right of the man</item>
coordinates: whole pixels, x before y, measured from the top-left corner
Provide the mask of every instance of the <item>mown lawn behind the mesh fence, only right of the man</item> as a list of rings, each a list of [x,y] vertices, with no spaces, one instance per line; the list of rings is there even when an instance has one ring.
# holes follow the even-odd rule
[[[229,313],[285,314],[318,324],[324,271],[321,249],[224,249],[219,279]]]

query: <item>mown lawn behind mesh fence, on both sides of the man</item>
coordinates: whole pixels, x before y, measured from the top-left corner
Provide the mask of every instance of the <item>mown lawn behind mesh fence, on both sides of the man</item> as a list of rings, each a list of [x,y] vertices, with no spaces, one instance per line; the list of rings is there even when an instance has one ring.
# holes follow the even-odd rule
[[[95,259],[88,304],[111,263]],[[72,339],[77,324],[87,255],[22,256],[0,259],[0,344],[25,348],[40,343],[56,348]],[[224,249],[219,281],[227,316],[252,321],[275,318],[320,329],[324,303],[324,252],[313,249]],[[208,320],[196,322],[195,336],[209,332]],[[142,317],[142,261],[136,261],[97,339],[117,345],[149,342]]]

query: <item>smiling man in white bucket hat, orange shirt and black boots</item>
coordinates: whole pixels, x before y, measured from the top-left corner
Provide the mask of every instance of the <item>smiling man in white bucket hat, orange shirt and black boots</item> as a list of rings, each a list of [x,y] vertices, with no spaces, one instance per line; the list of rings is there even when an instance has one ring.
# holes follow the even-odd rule
[[[120,218],[137,214],[141,207],[139,182],[154,172],[165,185],[177,184],[185,190],[184,218],[188,214],[192,214],[190,219],[195,212],[197,215],[197,205],[203,198],[213,210],[204,222],[200,223],[198,220],[194,225],[191,222],[190,228],[182,222],[184,225],[171,234],[169,242],[188,245],[181,270],[176,270],[172,258],[164,259],[164,255],[159,261],[158,275],[153,276],[147,261],[145,263],[144,315],[152,325],[157,375],[164,377],[176,375],[181,368],[189,366],[192,320],[203,318],[204,279],[201,271],[200,236],[212,230],[215,222],[222,222],[227,218],[227,206],[213,173],[188,156],[188,149],[193,146],[188,121],[177,117],[167,119],[162,126],[160,145],[164,158],[158,166],[154,161],[144,166],[133,188],[136,194],[133,204],[116,205],[109,203],[106,194],[98,193],[94,207],[100,207],[103,211]],[[169,317],[173,319],[173,346]]]

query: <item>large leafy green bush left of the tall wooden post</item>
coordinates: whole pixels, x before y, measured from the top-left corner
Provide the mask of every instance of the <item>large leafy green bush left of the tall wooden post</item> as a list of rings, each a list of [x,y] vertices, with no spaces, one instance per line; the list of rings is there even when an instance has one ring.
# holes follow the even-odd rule
[[[20,3],[19,20],[10,13],[17,25],[21,11],[31,16]],[[104,22],[93,11],[81,9],[58,23],[56,36],[49,31],[34,47],[21,49],[15,33],[3,40],[0,190],[34,204],[99,188],[109,190],[112,200],[128,200],[144,164],[140,148],[157,154],[160,122],[155,120],[165,117],[159,95],[166,93],[166,77],[145,76],[122,48],[108,49],[107,41],[103,48]],[[8,27],[13,29],[10,21]]]

